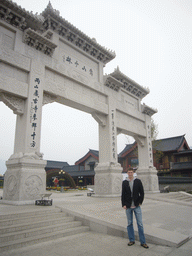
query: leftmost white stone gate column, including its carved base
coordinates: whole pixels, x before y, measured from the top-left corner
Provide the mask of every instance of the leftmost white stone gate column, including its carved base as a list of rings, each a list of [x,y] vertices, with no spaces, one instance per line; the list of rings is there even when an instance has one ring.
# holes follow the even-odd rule
[[[46,161],[40,153],[44,66],[31,61],[28,98],[17,115],[14,154],[6,162],[3,201],[32,204],[46,189]]]

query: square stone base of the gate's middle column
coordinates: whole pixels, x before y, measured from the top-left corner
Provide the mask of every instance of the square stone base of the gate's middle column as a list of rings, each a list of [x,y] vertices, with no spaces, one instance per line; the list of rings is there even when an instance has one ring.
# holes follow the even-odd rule
[[[120,164],[99,163],[95,168],[95,195],[98,197],[116,197],[121,195],[122,167]]]

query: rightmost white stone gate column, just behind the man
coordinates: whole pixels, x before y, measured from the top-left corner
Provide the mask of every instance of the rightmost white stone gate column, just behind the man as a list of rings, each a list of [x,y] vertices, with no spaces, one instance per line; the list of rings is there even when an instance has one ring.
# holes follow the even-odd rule
[[[153,150],[151,140],[151,117],[145,114],[146,138],[134,136],[138,144],[139,168],[138,178],[141,179],[146,193],[159,192],[157,170],[153,166]]]

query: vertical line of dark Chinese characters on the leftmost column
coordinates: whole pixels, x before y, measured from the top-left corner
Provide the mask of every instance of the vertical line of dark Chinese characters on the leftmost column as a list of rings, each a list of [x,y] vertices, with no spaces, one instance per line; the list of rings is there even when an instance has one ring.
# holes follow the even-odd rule
[[[31,139],[30,139],[30,147],[36,147],[36,129],[37,129],[37,121],[38,121],[38,108],[39,108],[39,86],[40,79],[34,79],[33,86],[33,98],[31,101],[31,109],[30,109],[30,125],[31,125]]]

